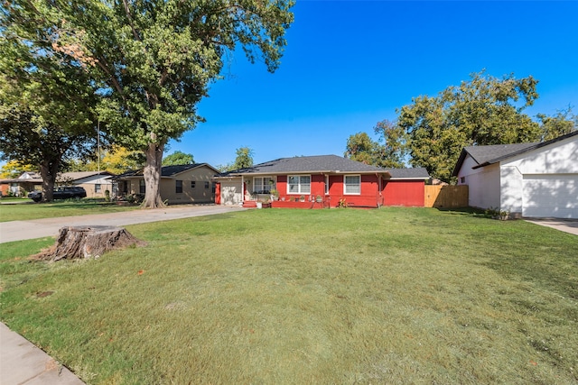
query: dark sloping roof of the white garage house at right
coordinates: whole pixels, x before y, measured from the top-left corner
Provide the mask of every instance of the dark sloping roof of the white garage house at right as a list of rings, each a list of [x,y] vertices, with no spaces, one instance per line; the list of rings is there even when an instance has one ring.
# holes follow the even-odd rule
[[[473,169],[478,169],[483,166],[488,166],[489,164],[497,163],[500,160],[508,159],[514,155],[536,150],[555,142],[560,142],[575,135],[578,135],[578,131],[574,131],[573,133],[566,133],[565,135],[558,136],[557,138],[547,142],[494,144],[490,146],[464,147],[463,150],[461,150],[460,158],[453,168],[452,176],[458,176],[458,172],[460,172],[461,165],[463,164],[463,161],[466,159],[467,155],[470,155],[471,158],[476,163],[478,163],[473,167]]]

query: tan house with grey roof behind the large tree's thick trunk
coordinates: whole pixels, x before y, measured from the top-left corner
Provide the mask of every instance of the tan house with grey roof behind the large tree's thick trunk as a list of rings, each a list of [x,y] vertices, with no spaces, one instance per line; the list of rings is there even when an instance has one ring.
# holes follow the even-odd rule
[[[163,166],[161,198],[169,204],[210,203],[215,201],[212,178],[219,173],[208,163]],[[115,178],[117,197],[144,195],[143,170],[127,171]]]

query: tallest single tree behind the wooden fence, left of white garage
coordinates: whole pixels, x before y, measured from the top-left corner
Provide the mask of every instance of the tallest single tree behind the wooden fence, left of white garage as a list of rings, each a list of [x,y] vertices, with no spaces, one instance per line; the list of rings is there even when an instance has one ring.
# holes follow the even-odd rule
[[[415,97],[398,111],[411,164],[450,181],[465,146],[540,140],[539,124],[523,114],[538,97],[536,84],[532,77],[494,78],[481,71],[438,96]]]

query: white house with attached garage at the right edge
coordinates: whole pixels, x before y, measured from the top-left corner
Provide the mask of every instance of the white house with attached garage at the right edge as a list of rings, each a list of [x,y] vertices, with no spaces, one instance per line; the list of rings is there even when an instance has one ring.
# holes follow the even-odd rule
[[[472,207],[578,218],[578,131],[541,143],[465,147],[452,175],[469,186]]]

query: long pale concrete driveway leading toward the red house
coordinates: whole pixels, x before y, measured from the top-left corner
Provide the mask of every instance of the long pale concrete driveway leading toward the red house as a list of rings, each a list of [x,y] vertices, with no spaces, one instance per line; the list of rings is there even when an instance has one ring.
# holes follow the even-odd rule
[[[0,222],[0,243],[56,236],[61,227],[79,225],[125,226],[246,210],[239,206],[168,206],[120,213],[62,216],[25,221]]]

